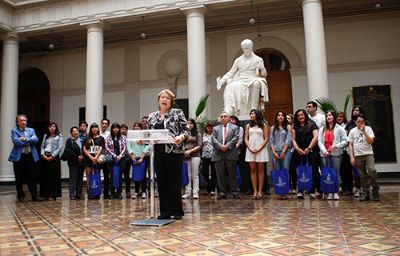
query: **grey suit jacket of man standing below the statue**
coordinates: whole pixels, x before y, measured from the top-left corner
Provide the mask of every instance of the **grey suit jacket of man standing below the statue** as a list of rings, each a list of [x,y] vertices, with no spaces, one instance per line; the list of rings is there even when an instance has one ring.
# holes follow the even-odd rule
[[[222,159],[228,160],[239,160],[239,155],[236,150],[236,143],[239,140],[239,127],[232,123],[228,123],[228,136],[226,145],[228,146],[228,151],[222,152],[220,150],[223,145],[223,125],[219,124],[213,129],[212,143],[214,146],[214,154],[212,156],[212,161],[220,161]]]

